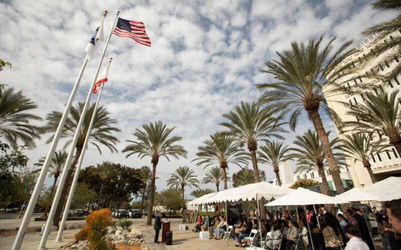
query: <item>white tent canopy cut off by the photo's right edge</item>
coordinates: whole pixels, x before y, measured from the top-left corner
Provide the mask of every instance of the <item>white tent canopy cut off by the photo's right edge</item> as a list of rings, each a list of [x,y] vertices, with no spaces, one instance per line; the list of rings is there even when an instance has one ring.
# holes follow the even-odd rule
[[[398,195],[401,196],[401,177],[390,176],[368,185],[362,188],[362,190],[381,198],[394,193],[398,193]]]

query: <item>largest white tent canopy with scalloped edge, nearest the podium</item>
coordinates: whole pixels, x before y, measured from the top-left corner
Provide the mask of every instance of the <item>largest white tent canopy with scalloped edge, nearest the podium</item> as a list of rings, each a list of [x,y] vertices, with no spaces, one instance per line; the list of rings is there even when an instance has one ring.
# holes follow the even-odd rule
[[[210,196],[202,196],[191,201],[193,204],[212,204],[222,202],[237,202],[237,201],[248,201],[258,199],[267,199],[281,197],[294,189],[273,185],[268,182],[258,182],[248,185],[238,186],[235,188],[229,188],[220,192],[214,193]]]

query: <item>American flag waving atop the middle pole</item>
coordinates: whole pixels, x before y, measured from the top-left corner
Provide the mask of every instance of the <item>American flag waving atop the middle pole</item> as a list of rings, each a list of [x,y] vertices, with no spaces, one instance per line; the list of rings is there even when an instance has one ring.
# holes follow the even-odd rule
[[[150,39],[145,31],[145,24],[141,21],[130,21],[118,17],[117,26],[114,28],[113,34],[130,37],[140,44],[149,47],[151,45]]]

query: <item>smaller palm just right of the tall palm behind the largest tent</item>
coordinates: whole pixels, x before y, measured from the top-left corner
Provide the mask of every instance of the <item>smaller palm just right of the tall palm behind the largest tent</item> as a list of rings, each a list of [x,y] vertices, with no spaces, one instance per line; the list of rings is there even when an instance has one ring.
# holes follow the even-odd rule
[[[279,174],[279,164],[286,160],[291,159],[288,152],[290,148],[284,146],[283,142],[273,140],[272,142],[266,141],[266,145],[260,147],[258,151],[259,159],[262,163],[267,163],[273,166],[276,173],[277,184],[281,186],[281,179]]]

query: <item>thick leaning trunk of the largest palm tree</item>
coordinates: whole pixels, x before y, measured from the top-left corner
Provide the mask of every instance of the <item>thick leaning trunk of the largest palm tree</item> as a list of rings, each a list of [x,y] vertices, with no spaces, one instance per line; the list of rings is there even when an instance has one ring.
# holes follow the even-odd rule
[[[311,118],[313,125],[315,126],[316,133],[319,136],[320,142],[322,142],[322,147],[324,151],[324,156],[326,157],[331,176],[333,177],[333,182],[337,190],[337,194],[343,193],[345,191],[344,186],[341,181],[340,171],[335,162],[333,151],[330,147],[329,137],[327,136],[326,130],[324,129],[322,119],[318,112],[318,108],[312,108],[308,110],[309,117]]]

